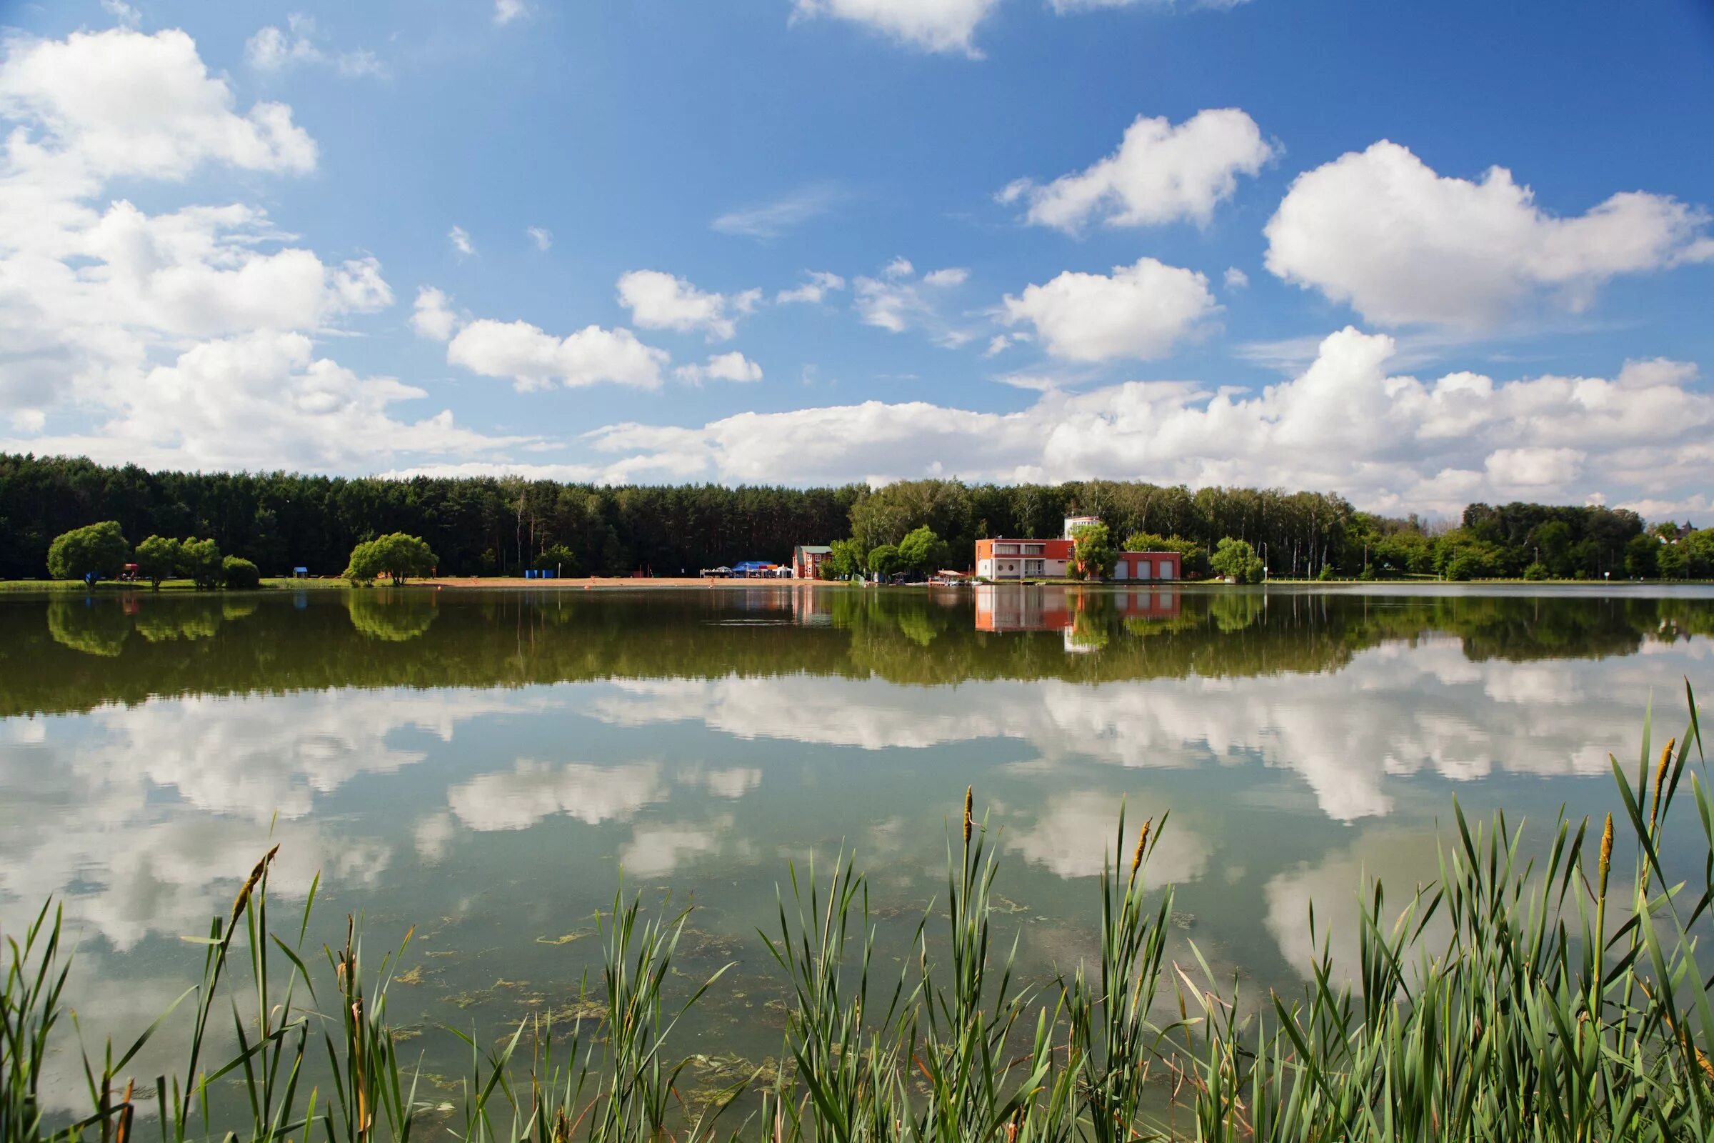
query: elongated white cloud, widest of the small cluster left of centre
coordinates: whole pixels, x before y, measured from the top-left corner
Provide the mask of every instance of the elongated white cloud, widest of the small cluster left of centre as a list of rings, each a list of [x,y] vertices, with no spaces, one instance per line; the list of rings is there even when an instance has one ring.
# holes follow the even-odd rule
[[[439,320],[439,319],[432,319]],[[612,382],[655,389],[670,360],[629,329],[586,326],[566,338],[528,322],[473,320],[446,346],[446,360],[485,377],[509,377],[518,389],[567,389]]]

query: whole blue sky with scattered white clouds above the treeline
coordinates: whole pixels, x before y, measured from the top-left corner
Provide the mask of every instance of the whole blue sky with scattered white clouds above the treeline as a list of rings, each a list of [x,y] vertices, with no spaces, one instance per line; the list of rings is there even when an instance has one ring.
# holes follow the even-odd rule
[[[1705,3],[0,22],[0,449],[1709,507]]]

